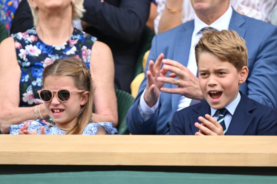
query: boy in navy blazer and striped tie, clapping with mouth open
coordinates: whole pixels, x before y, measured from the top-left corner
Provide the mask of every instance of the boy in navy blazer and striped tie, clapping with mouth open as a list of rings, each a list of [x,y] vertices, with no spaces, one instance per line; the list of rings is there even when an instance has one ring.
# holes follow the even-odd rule
[[[206,31],[195,57],[205,101],[175,112],[170,135],[277,135],[277,112],[239,92],[248,53],[235,31]]]

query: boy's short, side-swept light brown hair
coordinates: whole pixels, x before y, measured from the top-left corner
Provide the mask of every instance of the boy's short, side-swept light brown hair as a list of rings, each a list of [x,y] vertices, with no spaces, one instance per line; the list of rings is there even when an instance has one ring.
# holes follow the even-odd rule
[[[202,52],[216,55],[222,61],[228,61],[237,71],[248,66],[248,51],[244,39],[233,30],[205,31],[195,46],[195,59],[198,66]]]

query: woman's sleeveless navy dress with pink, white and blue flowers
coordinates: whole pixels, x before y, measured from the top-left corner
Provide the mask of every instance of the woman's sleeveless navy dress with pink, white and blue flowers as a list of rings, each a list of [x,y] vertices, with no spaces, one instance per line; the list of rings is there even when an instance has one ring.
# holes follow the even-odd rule
[[[47,45],[37,35],[35,28],[11,35],[21,68],[19,107],[41,104],[38,90],[42,89],[44,67],[63,57],[77,57],[89,68],[91,47],[95,37],[74,28],[70,39],[62,45]]]

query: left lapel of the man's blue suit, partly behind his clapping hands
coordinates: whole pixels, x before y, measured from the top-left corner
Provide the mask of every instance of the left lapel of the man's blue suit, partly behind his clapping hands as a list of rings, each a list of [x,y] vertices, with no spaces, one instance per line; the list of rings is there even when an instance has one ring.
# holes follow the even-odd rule
[[[192,32],[194,30],[194,20],[189,21],[185,24],[183,24],[184,29],[178,32],[178,35],[175,37],[175,47],[174,47],[174,54],[172,59],[174,61],[177,61],[181,63],[184,66],[187,66],[188,64],[188,57],[190,55],[190,44],[191,44],[191,37]],[[177,85],[171,85],[171,88],[176,88]],[[179,104],[181,95],[179,94],[172,94],[171,95],[171,105],[172,109],[177,109],[177,106]]]

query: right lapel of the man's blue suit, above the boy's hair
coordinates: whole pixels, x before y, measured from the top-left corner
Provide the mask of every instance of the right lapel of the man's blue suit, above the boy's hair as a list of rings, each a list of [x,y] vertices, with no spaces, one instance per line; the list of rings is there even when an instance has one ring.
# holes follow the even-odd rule
[[[232,17],[229,24],[229,30],[236,31],[240,37],[244,38],[245,29],[241,28],[244,23],[245,21],[243,16],[233,9]]]

